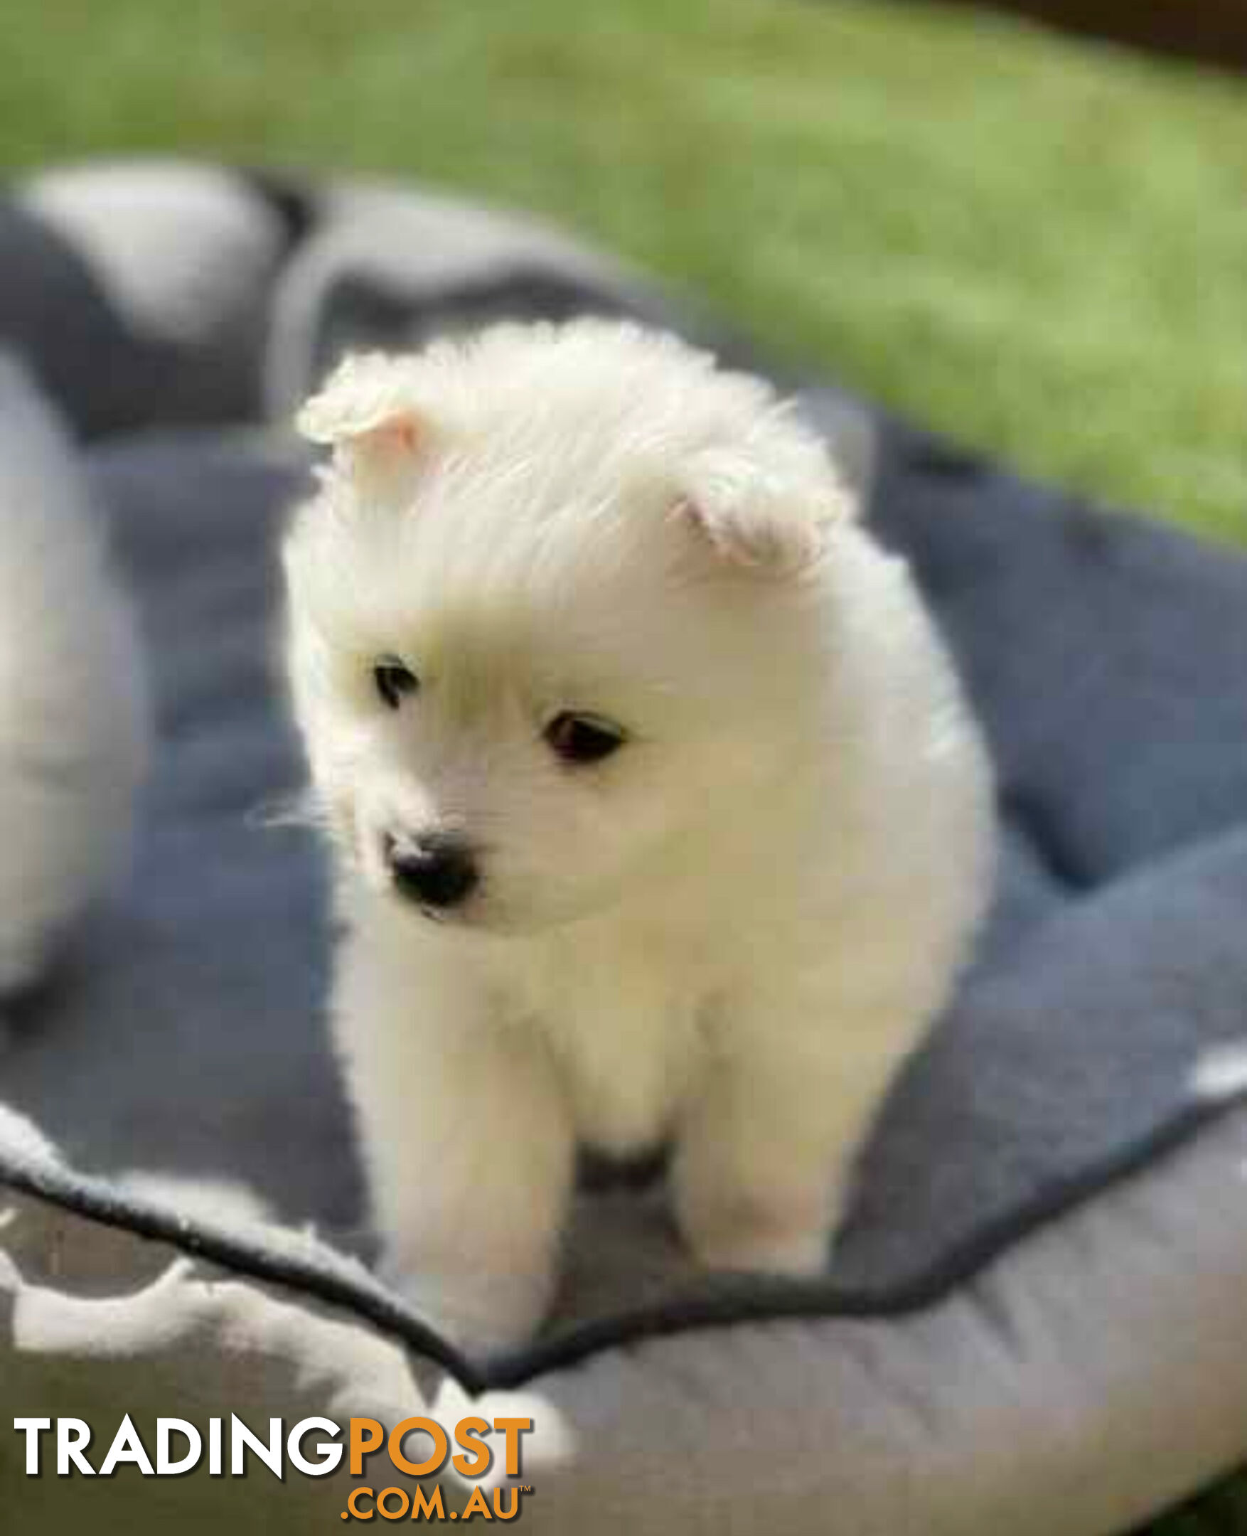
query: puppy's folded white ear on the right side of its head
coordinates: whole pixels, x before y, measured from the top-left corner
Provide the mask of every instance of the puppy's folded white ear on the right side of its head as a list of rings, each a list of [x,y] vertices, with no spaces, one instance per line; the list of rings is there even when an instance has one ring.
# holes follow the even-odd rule
[[[772,470],[748,453],[697,455],[671,516],[729,565],[760,576],[796,576],[820,559],[832,524],[855,505],[826,458]]]

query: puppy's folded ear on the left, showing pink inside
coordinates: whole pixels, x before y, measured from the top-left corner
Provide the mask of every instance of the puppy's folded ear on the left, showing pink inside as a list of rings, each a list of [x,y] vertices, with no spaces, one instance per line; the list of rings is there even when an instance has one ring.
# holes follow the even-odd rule
[[[408,482],[433,436],[412,399],[405,361],[382,352],[346,358],[295,425],[310,442],[329,444],[335,470],[366,495]]]

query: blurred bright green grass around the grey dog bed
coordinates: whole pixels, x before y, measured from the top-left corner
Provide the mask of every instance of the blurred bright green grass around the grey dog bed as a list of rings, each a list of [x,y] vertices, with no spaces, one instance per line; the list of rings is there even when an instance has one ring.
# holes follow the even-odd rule
[[[1027,472],[1247,542],[1233,81],[883,0],[9,12],[14,170],[174,151],[539,209]],[[1158,1531],[1247,1536],[1247,1488]]]

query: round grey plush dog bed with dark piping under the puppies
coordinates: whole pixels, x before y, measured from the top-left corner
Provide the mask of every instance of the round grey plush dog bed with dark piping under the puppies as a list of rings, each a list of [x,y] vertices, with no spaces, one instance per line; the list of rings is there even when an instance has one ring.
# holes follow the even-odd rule
[[[556,1316],[482,1369],[367,1269],[324,868],[284,814],[273,548],[307,462],[266,422],[346,344],[501,313],[748,349],[522,220],[177,164],[14,189],[0,275],[0,344],[84,439],[66,453],[111,518],[158,728],[132,869],[5,1005],[0,1502],[22,1530],[306,1530],[352,1479],[34,1479],[14,1416],[88,1421],[98,1465],[126,1412],[149,1448],[157,1416],[528,1415],[521,1475],[485,1484],[531,1487],[551,1533],[1092,1536],[1247,1456],[1247,562],[785,379],[989,731],[995,912],[825,1279],[697,1276],[653,1170],[587,1169]]]

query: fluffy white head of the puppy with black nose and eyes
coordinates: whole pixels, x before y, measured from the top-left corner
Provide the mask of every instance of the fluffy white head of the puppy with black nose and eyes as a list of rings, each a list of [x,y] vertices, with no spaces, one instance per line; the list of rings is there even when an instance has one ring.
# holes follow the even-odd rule
[[[670,336],[505,326],[349,359],[286,544],[289,664],[347,862],[424,920],[651,909],[817,734],[846,511],[769,390]]]

